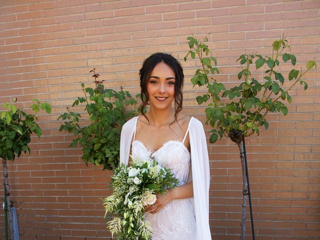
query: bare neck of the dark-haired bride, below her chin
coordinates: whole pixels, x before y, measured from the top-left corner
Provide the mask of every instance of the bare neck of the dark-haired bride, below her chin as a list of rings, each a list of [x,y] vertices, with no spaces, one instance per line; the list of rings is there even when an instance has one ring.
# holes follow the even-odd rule
[[[149,124],[155,127],[168,125],[174,120],[174,110],[172,108],[165,110],[152,110],[146,113]]]

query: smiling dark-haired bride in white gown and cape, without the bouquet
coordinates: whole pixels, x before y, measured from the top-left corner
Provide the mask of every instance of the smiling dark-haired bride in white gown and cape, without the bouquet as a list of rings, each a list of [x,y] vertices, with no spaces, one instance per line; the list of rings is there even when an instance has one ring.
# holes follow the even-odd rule
[[[202,123],[180,113],[183,71],[166,53],[154,53],[140,69],[141,111],[121,131],[120,162],[128,164],[129,154],[154,157],[170,168],[179,186],[157,195],[146,207],[153,240],[211,239],[208,223],[209,163]],[[174,101],[174,107],[172,107]],[[192,165],[192,167],[191,167]]]

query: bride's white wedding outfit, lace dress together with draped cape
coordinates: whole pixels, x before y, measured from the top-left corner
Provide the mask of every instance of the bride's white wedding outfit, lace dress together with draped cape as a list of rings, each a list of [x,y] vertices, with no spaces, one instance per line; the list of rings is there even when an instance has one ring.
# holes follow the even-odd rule
[[[208,221],[210,172],[202,123],[191,117],[182,141],[169,140],[151,153],[141,141],[135,140],[137,119],[135,116],[122,126],[120,163],[128,164],[131,149],[133,157],[147,159],[152,156],[160,165],[171,168],[180,184],[188,181],[190,168],[189,179],[192,179],[193,186],[193,197],[174,199],[159,212],[146,213],[146,218],[154,229],[152,239],[211,240]],[[183,144],[187,134],[190,139],[190,152]]]

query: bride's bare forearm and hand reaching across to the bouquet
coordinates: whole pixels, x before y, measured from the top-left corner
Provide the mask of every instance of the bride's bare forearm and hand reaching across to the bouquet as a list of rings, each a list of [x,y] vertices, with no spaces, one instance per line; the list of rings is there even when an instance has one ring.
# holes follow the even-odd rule
[[[189,198],[193,196],[193,186],[192,181],[174,188],[170,188],[163,195],[156,194],[156,201],[153,205],[149,205],[145,208],[145,211],[150,213],[158,212],[162,207],[164,207],[169,201],[173,199]]]

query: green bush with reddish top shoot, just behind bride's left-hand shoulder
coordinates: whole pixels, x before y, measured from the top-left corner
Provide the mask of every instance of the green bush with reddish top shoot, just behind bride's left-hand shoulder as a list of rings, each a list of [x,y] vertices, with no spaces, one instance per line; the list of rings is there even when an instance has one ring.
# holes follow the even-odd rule
[[[132,98],[128,91],[104,89],[103,81],[98,81],[99,74],[93,72],[95,88],[86,87],[81,83],[84,97],[77,97],[72,106],[84,105],[84,110],[89,115],[89,124],[80,126],[81,115],[72,111],[61,114],[59,118],[64,120],[59,131],[71,132],[76,136],[69,147],[76,147],[79,143],[82,147],[82,159],[87,164],[96,166],[103,164],[104,169],[114,169],[119,162],[120,133],[122,125],[127,119],[137,115],[135,109],[137,98]],[[134,106],[133,110],[127,110],[125,106]]]

